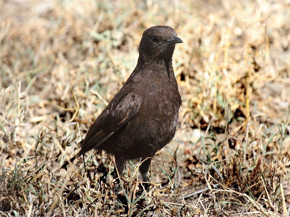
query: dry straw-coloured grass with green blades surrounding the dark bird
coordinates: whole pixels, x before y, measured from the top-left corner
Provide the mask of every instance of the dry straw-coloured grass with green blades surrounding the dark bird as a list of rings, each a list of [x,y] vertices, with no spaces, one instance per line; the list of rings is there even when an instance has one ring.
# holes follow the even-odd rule
[[[0,1],[0,216],[289,216],[289,20],[286,0]],[[180,124],[150,192],[133,161],[116,200],[104,152],[59,167],[153,25],[184,41]]]

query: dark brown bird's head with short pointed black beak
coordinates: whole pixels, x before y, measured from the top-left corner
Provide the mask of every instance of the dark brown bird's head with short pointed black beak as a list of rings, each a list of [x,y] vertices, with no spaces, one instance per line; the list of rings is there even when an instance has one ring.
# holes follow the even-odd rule
[[[145,30],[139,45],[144,62],[171,59],[175,44],[183,43],[170,26],[153,26]]]

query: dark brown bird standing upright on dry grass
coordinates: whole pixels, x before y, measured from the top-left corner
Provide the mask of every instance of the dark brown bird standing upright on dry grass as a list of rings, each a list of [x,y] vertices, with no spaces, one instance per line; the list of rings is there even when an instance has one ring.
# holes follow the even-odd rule
[[[152,157],[173,139],[178,122],[181,97],[172,67],[176,43],[183,42],[169,26],[144,31],[136,68],[90,127],[80,142],[80,151],[70,161],[93,148],[104,150],[114,155],[115,168],[121,175],[126,161],[141,158],[145,161],[139,170],[147,182]]]

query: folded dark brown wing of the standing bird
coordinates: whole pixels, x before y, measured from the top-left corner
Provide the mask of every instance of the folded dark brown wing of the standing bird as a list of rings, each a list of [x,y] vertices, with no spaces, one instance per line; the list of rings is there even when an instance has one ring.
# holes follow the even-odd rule
[[[130,87],[124,86],[111,100],[88,130],[78,156],[99,146],[123,128],[139,111],[140,98]]]

